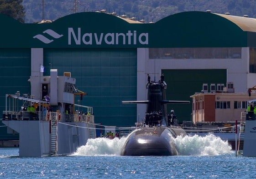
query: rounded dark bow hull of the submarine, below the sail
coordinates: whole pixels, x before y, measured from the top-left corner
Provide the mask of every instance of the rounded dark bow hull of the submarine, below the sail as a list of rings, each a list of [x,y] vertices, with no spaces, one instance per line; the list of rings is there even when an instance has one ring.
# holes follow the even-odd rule
[[[133,131],[121,151],[125,156],[178,155],[173,138],[186,132],[181,128],[145,127]]]

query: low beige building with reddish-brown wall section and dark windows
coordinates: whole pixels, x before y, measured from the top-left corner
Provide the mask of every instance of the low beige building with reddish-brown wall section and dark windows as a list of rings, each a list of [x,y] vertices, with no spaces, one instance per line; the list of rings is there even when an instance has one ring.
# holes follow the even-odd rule
[[[252,92],[249,97],[247,92],[200,92],[190,97],[193,123],[227,122],[240,121],[241,112],[246,111],[248,101],[256,99],[256,93]]]

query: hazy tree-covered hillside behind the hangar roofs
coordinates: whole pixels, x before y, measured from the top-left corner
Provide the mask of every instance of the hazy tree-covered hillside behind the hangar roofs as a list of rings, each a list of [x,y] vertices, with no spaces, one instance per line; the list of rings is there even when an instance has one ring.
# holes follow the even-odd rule
[[[10,10],[5,4],[22,0],[0,0],[0,13]],[[206,11],[230,15],[248,15],[256,18],[256,0],[23,0],[21,3],[25,15],[25,23],[35,23],[42,19],[57,20],[60,17],[77,12],[107,10],[108,13],[115,12],[117,15],[136,17],[136,20],[156,22],[168,15],[184,11]],[[11,16],[22,21],[22,10],[20,7]],[[6,13],[5,13],[6,14]]]

